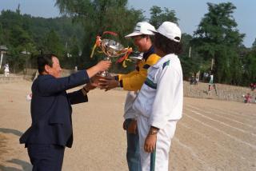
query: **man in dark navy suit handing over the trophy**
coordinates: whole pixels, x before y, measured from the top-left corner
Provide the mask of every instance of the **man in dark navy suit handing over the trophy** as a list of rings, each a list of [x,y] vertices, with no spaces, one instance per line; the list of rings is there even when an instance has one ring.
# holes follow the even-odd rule
[[[65,146],[73,142],[71,105],[88,101],[87,93],[96,85],[90,83],[98,72],[107,70],[110,62],[98,62],[88,70],[61,78],[62,68],[54,54],[38,57],[38,78],[32,85],[32,125],[20,138],[27,147],[33,170],[62,169]],[[66,93],[78,85],[82,89]]]

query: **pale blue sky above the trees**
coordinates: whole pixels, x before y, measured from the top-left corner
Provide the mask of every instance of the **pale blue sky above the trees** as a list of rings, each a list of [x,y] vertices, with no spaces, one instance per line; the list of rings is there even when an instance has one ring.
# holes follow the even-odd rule
[[[232,2],[237,7],[234,19],[238,23],[238,30],[246,34],[243,44],[251,47],[256,38],[256,1],[255,0],[128,0],[128,6],[136,10],[144,10],[144,15],[150,17],[150,7],[159,6],[176,12],[176,17],[182,33],[193,35],[198,24],[208,12],[206,2],[218,4]],[[0,10],[15,10],[20,4],[22,14],[34,17],[54,18],[60,16],[55,0],[0,0]]]

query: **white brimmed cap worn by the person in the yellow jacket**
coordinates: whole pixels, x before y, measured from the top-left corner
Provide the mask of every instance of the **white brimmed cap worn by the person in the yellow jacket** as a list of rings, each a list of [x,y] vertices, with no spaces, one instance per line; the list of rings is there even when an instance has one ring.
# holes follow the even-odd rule
[[[134,27],[134,32],[131,34],[128,34],[125,36],[125,38],[130,38],[142,34],[146,35],[154,35],[154,32],[156,32],[154,26],[150,25],[148,22],[138,22],[136,26]]]

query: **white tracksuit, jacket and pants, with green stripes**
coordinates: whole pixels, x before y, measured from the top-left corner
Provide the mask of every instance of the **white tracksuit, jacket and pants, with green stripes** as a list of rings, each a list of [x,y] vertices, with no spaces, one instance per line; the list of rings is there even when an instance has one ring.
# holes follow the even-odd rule
[[[138,111],[142,170],[149,170],[150,153],[144,151],[150,126],[159,129],[156,145],[155,170],[168,170],[171,138],[177,121],[182,117],[182,66],[175,54],[167,54],[148,69],[146,82],[134,101]]]

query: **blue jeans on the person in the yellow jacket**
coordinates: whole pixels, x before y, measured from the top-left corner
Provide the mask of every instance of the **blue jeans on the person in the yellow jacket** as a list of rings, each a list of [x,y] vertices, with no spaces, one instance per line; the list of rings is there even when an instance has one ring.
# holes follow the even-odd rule
[[[137,133],[128,133],[127,129],[132,119],[126,119],[127,153],[126,160],[130,171],[141,171],[141,158],[139,155],[138,129]]]

